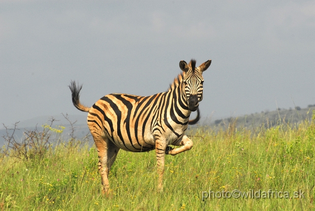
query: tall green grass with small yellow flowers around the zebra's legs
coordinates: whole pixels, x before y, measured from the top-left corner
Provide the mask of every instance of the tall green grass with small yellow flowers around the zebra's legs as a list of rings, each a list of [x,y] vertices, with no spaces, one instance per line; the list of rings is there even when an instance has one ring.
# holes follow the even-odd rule
[[[233,126],[233,125],[232,125]],[[166,156],[164,190],[157,192],[155,151],[121,150],[101,194],[95,147],[62,146],[37,160],[0,163],[0,210],[314,210],[315,124],[280,125],[255,132],[190,131],[194,146]],[[305,198],[205,199],[203,191],[301,189]]]

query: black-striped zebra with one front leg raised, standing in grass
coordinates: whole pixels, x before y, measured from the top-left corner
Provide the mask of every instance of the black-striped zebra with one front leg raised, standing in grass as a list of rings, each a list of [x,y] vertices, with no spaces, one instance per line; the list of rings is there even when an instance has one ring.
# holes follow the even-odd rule
[[[165,154],[176,155],[190,150],[192,141],[186,136],[188,124],[200,119],[199,102],[202,100],[203,76],[211,60],[195,67],[180,61],[183,70],[166,92],[141,97],[129,94],[109,94],[92,107],[80,103],[82,85],[71,81],[69,88],[73,105],[88,112],[88,126],[98,152],[98,171],[101,175],[102,193],[108,193],[108,174],[118,151],[147,152],[156,150],[158,191],[162,191]],[[197,116],[189,120],[191,111]],[[181,146],[172,148],[169,145]]]

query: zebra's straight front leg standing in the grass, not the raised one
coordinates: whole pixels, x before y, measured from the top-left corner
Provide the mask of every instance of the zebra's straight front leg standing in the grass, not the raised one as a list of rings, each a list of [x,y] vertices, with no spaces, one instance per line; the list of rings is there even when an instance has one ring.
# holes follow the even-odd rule
[[[163,190],[164,158],[165,158],[166,141],[156,140],[156,156],[158,167],[158,192]]]

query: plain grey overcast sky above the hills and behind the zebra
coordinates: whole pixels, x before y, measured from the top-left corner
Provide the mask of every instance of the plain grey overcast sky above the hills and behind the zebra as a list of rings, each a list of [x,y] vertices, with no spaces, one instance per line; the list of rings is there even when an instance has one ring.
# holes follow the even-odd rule
[[[0,0],[0,123],[82,114],[110,93],[167,90],[203,72],[213,120],[315,104],[315,1]]]

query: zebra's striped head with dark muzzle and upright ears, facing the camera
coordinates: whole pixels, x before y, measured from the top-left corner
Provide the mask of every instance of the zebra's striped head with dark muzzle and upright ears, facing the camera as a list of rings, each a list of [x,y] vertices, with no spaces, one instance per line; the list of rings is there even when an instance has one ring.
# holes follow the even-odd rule
[[[179,67],[185,72],[183,88],[185,88],[185,93],[188,100],[188,108],[191,111],[197,110],[199,102],[202,101],[202,72],[207,70],[210,64],[211,60],[208,60],[196,68],[196,60],[193,59],[189,62],[189,64],[183,60],[179,63]]]

